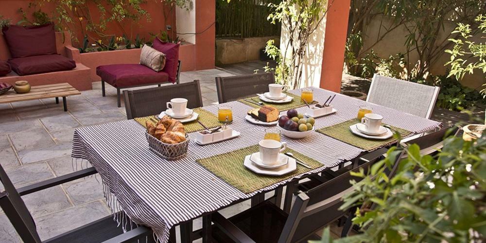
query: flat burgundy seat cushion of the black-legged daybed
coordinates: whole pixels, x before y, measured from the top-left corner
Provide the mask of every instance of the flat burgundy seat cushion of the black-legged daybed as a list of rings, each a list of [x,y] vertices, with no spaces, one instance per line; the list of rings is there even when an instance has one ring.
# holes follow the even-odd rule
[[[96,68],[96,74],[113,87],[159,84],[169,80],[169,74],[156,72],[140,64],[113,64]]]

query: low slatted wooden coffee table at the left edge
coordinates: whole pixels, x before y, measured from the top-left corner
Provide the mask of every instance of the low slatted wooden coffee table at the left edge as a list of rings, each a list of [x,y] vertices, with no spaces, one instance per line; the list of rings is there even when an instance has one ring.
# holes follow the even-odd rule
[[[62,97],[64,111],[68,111],[66,97],[78,94],[81,92],[68,83],[33,86],[30,92],[24,94],[17,94],[12,88],[7,93],[0,95],[0,104],[48,98],[56,98],[56,104],[59,104],[59,97]]]

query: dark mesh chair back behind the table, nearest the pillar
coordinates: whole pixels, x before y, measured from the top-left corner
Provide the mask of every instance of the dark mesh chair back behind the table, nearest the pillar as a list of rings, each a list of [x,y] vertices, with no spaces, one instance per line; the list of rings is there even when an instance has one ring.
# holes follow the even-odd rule
[[[257,93],[268,92],[268,85],[275,83],[273,72],[255,73],[241,76],[216,77],[218,102],[226,103]]]

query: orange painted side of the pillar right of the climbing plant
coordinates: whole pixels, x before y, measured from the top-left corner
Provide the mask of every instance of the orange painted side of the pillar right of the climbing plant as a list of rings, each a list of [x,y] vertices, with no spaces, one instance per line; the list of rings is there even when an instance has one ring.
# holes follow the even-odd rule
[[[350,4],[351,0],[330,0],[328,5],[320,87],[334,92],[341,91]]]

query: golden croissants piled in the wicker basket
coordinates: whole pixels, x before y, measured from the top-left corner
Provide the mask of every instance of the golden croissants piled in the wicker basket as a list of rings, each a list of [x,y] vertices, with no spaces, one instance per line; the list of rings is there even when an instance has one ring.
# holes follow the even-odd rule
[[[164,116],[155,125],[151,121],[146,121],[145,125],[147,133],[164,143],[174,144],[186,140],[184,125],[171,117]]]

